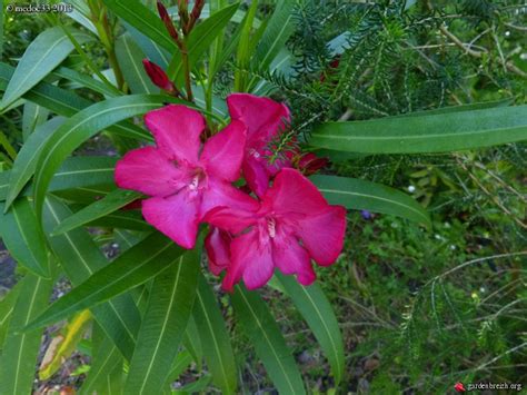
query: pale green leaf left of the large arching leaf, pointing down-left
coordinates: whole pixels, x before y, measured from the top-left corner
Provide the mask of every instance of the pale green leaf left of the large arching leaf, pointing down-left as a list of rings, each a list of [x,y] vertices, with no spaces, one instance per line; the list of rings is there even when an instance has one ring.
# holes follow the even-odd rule
[[[34,107],[41,108],[40,106]],[[43,142],[63,121],[64,118],[61,117],[52,118],[37,127],[34,132],[27,138],[11,169],[9,189],[6,197],[6,209],[9,209],[12,201],[33,175]]]

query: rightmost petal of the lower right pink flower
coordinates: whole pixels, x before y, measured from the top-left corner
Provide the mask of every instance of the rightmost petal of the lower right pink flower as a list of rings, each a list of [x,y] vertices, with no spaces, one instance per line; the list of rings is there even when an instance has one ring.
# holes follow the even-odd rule
[[[299,221],[296,234],[317,264],[331,265],[342,250],[346,209],[328,206],[322,213],[307,216]]]

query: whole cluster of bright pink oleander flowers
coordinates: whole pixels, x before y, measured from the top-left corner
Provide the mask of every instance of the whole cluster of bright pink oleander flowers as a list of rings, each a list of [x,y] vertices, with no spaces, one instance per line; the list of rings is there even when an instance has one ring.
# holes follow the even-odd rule
[[[116,182],[147,195],[145,219],[185,248],[193,248],[199,225],[209,224],[209,267],[225,271],[223,289],[240,280],[261,287],[275,269],[309,285],[312,261],[335,263],[346,230],[346,209],[329,205],[306,178],[326,161],[296,146],[269,159],[271,142],[290,121],[285,105],[247,93],[230,95],[227,105],[230,124],[208,139],[197,110],[169,105],[148,112],[156,145],[125,155]]]

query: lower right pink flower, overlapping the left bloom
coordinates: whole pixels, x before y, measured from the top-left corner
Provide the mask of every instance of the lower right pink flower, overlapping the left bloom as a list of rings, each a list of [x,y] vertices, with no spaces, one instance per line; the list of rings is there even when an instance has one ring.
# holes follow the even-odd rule
[[[229,292],[240,279],[249,289],[264,286],[276,267],[311,284],[311,259],[335,263],[346,231],[346,209],[330,206],[295,169],[278,172],[257,209],[217,207],[203,220],[217,227],[206,247],[212,273],[227,271],[222,287]]]

